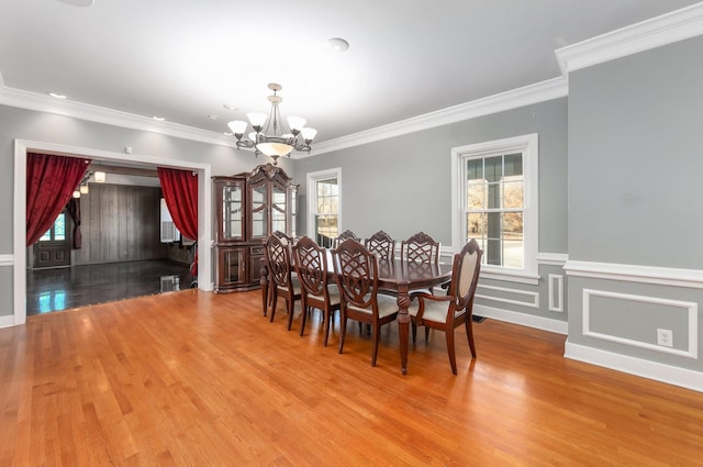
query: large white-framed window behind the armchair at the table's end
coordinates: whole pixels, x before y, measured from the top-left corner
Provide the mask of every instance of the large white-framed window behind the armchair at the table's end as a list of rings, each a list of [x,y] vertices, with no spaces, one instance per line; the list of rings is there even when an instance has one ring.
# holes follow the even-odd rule
[[[536,283],[537,135],[456,147],[453,243],[476,238],[481,275]]]

